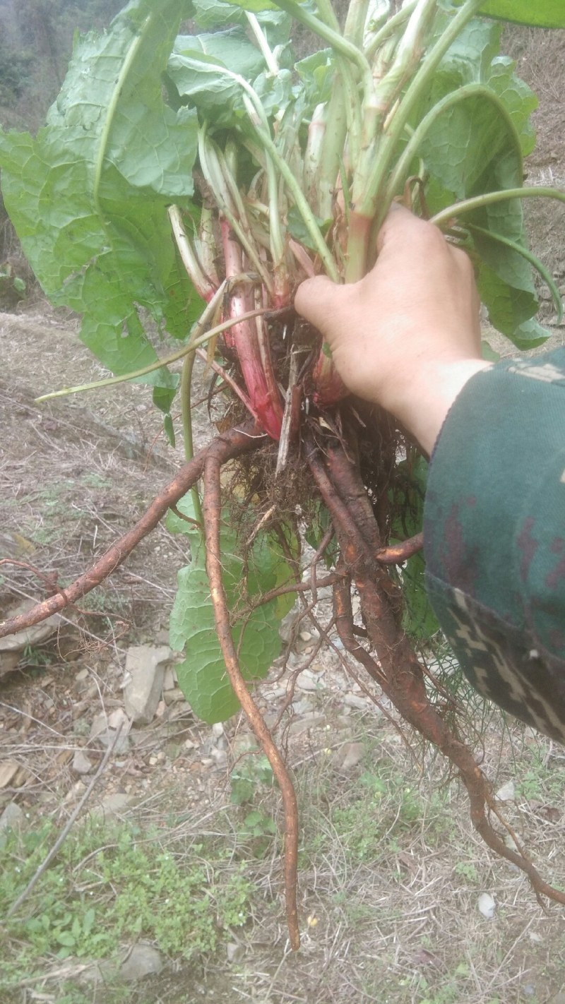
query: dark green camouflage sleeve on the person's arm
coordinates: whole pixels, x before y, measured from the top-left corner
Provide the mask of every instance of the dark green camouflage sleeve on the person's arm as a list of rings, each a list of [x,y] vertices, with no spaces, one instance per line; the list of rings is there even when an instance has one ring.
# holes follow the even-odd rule
[[[423,535],[471,683],[565,742],[565,348],[469,381],[436,444]]]

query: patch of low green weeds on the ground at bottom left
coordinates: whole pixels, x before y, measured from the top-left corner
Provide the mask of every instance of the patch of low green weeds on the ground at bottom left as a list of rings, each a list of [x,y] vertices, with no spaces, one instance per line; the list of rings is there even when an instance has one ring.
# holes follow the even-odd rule
[[[89,820],[77,826],[5,924],[0,949],[9,981],[46,956],[111,958],[120,942],[154,942],[190,960],[213,954],[229,928],[249,916],[250,883],[219,843],[164,847],[158,831]],[[56,838],[50,823],[3,834],[0,916],[25,888]],[[15,955],[10,944],[18,943]],[[4,958],[2,959],[2,955]],[[16,957],[17,956],[17,957]]]

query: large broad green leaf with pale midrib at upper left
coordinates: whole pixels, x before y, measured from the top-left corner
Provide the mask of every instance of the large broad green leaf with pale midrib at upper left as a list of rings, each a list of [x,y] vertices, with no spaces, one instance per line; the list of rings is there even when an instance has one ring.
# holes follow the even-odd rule
[[[167,206],[189,203],[198,122],[163,103],[162,72],[188,0],[132,0],[107,33],[81,38],[36,138],[0,132],[3,193],[23,249],[55,304],[83,314],[81,338],[115,373],[157,353],[144,312],[185,336],[200,302],[177,261]],[[168,408],[176,380],[142,379]]]

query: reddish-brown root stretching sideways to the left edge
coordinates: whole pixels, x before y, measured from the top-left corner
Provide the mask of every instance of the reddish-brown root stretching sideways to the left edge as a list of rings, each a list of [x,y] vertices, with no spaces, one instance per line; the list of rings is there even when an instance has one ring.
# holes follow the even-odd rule
[[[242,429],[232,429],[219,436],[210,446],[199,450],[191,462],[182,467],[177,477],[154,499],[135,525],[119,540],[116,540],[111,547],[108,547],[107,551],[88,571],[71,582],[66,589],[61,588],[54,596],[49,596],[37,603],[27,613],[20,613],[19,616],[5,620],[0,624],[0,638],[5,638],[7,635],[15,634],[25,628],[31,628],[32,624],[39,623],[41,620],[46,620],[52,613],[58,613],[65,606],[74,603],[81,596],[85,596],[96,585],[103,582],[108,575],[111,575],[112,571],[131,553],[136,544],[163,519],[167,510],[176,505],[179,499],[186,495],[198,481],[210,450],[215,448],[215,457],[218,462],[225,464],[226,461],[234,457],[255,450],[261,439],[263,439],[263,433],[256,426],[249,425]]]

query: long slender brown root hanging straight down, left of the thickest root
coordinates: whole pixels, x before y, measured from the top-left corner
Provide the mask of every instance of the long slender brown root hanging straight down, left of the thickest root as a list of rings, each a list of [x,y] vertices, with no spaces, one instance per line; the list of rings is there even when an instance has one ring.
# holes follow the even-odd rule
[[[216,631],[226,663],[226,670],[234,693],[238,698],[251,728],[267,756],[278,781],[285,817],[284,834],[284,886],[286,919],[291,948],[300,948],[298,910],[296,906],[296,883],[298,869],[298,807],[296,793],[284,761],[273,742],[265,721],[255,704],[247,684],[241,674],[236,647],[230,626],[226,590],[222,581],[222,553],[220,543],[220,516],[222,512],[222,490],[220,470],[223,459],[220,450],[213,444],[204,464],[203,512],[206,525],[206,570],[210,583],[210,594],[214,607]]]

